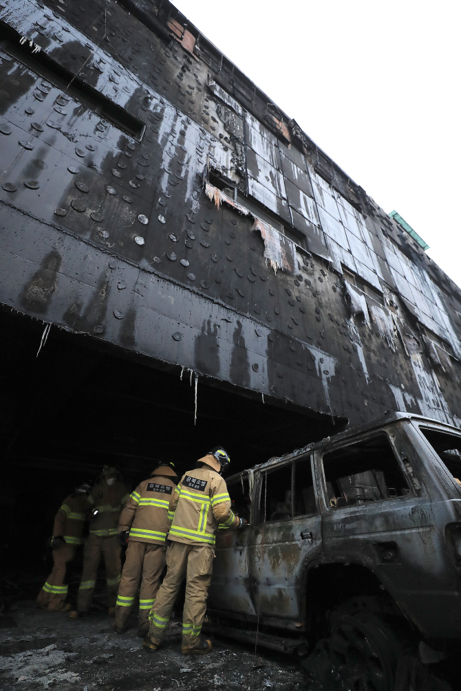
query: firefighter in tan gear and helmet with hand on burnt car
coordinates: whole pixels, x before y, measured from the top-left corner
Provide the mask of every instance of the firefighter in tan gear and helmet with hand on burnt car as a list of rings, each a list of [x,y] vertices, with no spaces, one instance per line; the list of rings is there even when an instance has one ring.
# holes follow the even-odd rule
[[[231,509],[227,486],[220,473],[228,466],[229,456],[216,446],[196,463],[196,469],[182,476],[170,502],[173,522],[168,538],[167,575],[149,614],[149,633],[143,645],[156,650],[164,636],[174,601],[186,577],[186,595],[182,614],[183,655],[203,654],[211,650],[211,641],[200,636],[214,558],[214,531],[242,528],[244,518]]]

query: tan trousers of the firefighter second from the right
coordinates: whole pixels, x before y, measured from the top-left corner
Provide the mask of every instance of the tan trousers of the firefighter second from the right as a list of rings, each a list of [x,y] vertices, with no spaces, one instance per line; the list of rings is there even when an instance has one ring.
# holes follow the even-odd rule
[[[129,540],[115,605],[116,626],[122,628],[128,621],[140,583],[138,625],[149,623],[149,610],[156,599],[166,551],[166,545]]]

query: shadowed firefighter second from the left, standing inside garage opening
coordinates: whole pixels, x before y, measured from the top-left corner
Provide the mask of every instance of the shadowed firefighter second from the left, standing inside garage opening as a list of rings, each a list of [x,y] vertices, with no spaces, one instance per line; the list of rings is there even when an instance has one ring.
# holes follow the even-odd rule
[[[91,490],[86,515],[90,520],[90,534],[83,551],[83,573],[77,598],[77,609],[69,613],[71,619],[89,614],[96,585],[97,567],[104,556],[107,579],[108,614],[115,614],[122,562],[122,547],[118,544],[120,512],[128,500],[128,491],[117,468],[104,466]]]

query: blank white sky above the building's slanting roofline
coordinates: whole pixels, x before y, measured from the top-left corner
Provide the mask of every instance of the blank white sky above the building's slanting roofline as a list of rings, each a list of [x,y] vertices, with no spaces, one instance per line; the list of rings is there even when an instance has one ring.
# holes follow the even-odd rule
[[[173,0],[461,286],[458,0]]]

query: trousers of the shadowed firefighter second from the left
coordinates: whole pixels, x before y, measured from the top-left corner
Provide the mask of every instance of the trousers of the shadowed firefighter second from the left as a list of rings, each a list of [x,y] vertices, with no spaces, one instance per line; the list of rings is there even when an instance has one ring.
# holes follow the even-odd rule
[[[90,609],[96,585],[97,567],[100,565],[102,556],[104,556],[106,566],[108,607],[115,605],[122,570],[121,551],[122,547],[118,544],[116,535],[103,538],[90,533],[83,551],[83,573],[77,598],[78,612],[88,612]]]

